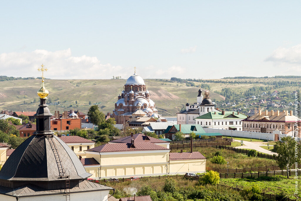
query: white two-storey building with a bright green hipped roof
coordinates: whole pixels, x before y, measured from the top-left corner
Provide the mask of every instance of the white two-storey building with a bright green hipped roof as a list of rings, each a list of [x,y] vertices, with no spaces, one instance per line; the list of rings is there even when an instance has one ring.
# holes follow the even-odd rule
[[[195,118],[197,124],[206,128],[218,128],[229,130],[242,130],[241,121],[247,118],[246,115],[241,114],[239,111],[220,111],[208,112],[205,115]]]

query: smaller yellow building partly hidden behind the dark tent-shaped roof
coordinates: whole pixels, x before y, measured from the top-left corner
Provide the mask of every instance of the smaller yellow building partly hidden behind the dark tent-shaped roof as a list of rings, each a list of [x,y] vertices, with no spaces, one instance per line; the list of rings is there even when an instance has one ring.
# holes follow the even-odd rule
[[[81,156],[81,158],[86,158],[85,150],[95,147],[95,142],[79,136],[61,136],[60,139],[63,140],[78,157]]]

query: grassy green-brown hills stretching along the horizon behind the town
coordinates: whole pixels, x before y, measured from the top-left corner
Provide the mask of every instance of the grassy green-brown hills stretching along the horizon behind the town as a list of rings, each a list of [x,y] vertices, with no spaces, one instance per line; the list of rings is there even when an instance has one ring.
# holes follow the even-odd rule
[[[235,81],[242,82],[244,80],[247,80],[248,83],[235,83]],[[144,79],[144,81],[150,91],[151,99],[156,103],[156,108],[163,116],[175,116],[178,111],[185,108],[186,99],[190,104],[197,100],[198,87],[196,86],[199,85],[198,82],[194,81],[196,86],[186,86],[186,83],[171,82],[171,80]],[[62,112],[70,109],[86,113],[90,107],[89,102],[98,104],[101,111],[107,113],[114,109],[117,96],[123,90],[125,83],[124,79],[45,80],[45,87],[50,93],[48,98],[52,103],[48,103],[48,105],[53,113],[55,110]],[[203,80],[202,83],[210,86],[210,98],[222,103],[225,97],[214,92],[221,92],[224,88],[231,89],[234,96],[237,97],[244,96],[244,93],[254,86],[268,86],[271,90],[283,91],[288,93],[287,96],[291,96],[289,92],[299,88],[300,78],[215,79]],[[40,87],[41,80],[38,79],[1,81],[0,109],[36,111],[39,104],[36,92]],[[241,106],[244,104],[241,103]]]

